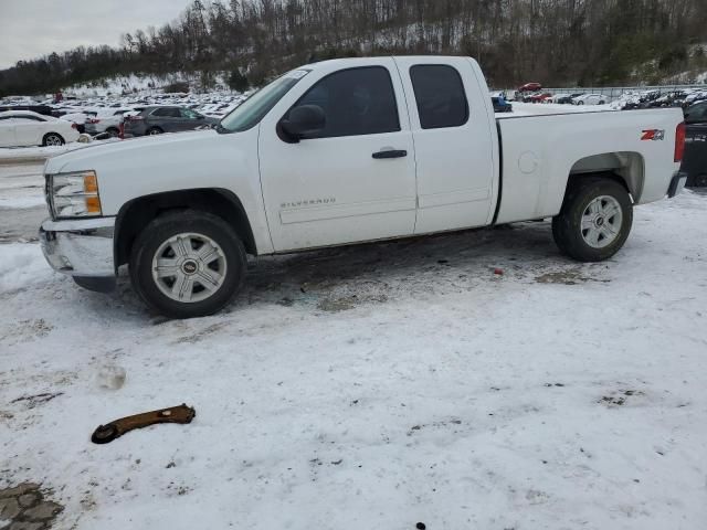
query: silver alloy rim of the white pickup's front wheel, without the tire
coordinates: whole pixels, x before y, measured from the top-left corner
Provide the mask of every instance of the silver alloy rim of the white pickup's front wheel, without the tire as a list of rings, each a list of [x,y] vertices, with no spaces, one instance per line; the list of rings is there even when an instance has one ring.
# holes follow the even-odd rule
[[[177,234],[162,243],[152,257],[152,279],[176,301],[193,304],[215,294],[226,275],[223,250],[202,234]]]

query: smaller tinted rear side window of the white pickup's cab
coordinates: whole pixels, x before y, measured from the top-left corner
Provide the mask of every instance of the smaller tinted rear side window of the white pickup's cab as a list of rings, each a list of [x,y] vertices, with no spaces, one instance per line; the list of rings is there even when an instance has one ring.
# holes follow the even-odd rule
[[[410,68],[410,80],[423,129],[466,124],[468,102],[456,68],[444,64],[419,64]]]

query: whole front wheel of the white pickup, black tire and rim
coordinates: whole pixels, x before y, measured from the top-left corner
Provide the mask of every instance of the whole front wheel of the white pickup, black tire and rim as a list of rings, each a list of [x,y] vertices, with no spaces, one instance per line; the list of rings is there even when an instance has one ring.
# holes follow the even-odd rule
[[[201,259],[204,250],[208,257]],[[160,262],[161,274],[156,268]],[[143,230],[130,252],[129,272],[133,288],[150,308],[182,319],[223,309],[243,285],[246,265],[245,247],[225,221],[187,210],[160,215]]]

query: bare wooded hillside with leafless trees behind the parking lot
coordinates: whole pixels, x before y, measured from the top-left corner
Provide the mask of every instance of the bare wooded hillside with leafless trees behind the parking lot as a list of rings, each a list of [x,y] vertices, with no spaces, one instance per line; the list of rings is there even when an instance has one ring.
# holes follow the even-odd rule
[[[495,86],[659,82],[707,66],[704,0],[194,0],[172,23],[0,71],[0,96],[133,73],[226,72],[258,86],[298,64],[387,54],[476,57]]]

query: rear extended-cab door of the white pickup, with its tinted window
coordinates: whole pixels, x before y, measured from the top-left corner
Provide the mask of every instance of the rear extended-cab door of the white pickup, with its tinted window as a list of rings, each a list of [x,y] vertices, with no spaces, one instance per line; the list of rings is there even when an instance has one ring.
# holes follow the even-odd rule
[[[488,224],[497,132],[478,65],[465,57],[395,57],[415,145],[415,234]]]

